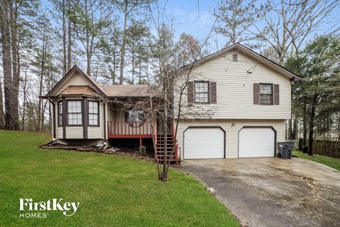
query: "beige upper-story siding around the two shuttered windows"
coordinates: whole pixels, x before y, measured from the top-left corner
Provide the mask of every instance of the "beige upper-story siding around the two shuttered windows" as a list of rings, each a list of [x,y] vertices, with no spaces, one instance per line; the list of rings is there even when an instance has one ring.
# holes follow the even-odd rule
[[[238,61],[232,62],[232,54],[238,54]],[[251,71],[249,74],[247,71]],[[185,77],[185,76],[184,76]],[[184,78],[183,77],[183,78]],[[290,118],[290,79],[274,70],[255,62],[243,52],[231,51],[209,60],[191,72],[191,81],[216,82],[217,104],[193,104],[188,106],[186,92],[182,103],[183,118],[231,118],[231,119],[288,119]],[[279,84],[279,105],[254,105],[254,83]],[[176,87],[179,87],[178,82]],[[176,89],[175,89],[176,93]],[[178,104],[179,93],[177,94]],[[208,113],[199,116],[186,115],[188,112]],[[209,113],[210,111],[210,113]]]

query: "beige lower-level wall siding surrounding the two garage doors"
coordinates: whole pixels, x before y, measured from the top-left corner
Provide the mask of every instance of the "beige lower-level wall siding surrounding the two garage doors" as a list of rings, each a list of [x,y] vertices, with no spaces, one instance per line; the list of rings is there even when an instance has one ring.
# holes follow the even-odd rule
[[[234,124],[233,124],[234,123]],[[272,126],[276,130],[276,140],[282,142],[284,140],[284,121],[283,120],[202,120],[202,121],[180,121],[177,132],[177,140],[179,142],[179,150],[181,150],[181,158],[183,159],[183,132],[189,126],[220,126],[225,130],[225,157],[238,157],[239,131],[244,126]],[[209,135],[207,135],[209,136]]]

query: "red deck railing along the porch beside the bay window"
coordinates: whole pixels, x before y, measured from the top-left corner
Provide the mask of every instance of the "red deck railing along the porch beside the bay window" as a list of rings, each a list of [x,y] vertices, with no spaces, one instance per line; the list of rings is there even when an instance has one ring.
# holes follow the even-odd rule
[[[152,121],[130,126],[126,121],[108,121],[108,138],[152,138]]]

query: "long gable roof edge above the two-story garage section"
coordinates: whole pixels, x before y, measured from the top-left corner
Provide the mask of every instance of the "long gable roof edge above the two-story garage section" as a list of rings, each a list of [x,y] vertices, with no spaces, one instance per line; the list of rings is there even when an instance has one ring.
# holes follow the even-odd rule
[[[189,65],[185,65],[181,67],[179,70],[188,70],[193,67],[198,67],[199,65],[202,65],[205,62],[208,62],[209,60],[215,59],[217,57],[220,57],[221,55],[225,55],[227,52],[232,50],[238,50],[241,51],[244,55],[247,55],[254,59],[256,62],[261,62],[266,67],[271,68],[272,70],[283,74],[285,77],[288,77],[290,80],[299,81],[301,78],[297,76],[297,74],[290,72],[289,70],[285,69],[284,67],[278,65],[277,63],[269,60],[266,57],[263,57],[262,55],[259,55],[258,53],[254,52],[253,50],[250,50],[249,48],[246,48],[244,45],[241,45],[239,43],[235,43],[234,45],[230,45],[227,48],[223,48],[222,50],[219,50],[217,52],[212,53],[211,55],[208,55],[206,57],[201,58],[200,60],[197,60],[194,63],[191,63]]]

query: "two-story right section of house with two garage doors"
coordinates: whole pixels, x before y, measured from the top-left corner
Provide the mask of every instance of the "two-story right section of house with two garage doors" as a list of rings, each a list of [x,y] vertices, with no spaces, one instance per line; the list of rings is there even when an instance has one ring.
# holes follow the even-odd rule
[[[182,159],[276,156],[296,74],[236,43],[181,68],[180,77]]]

